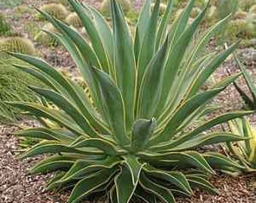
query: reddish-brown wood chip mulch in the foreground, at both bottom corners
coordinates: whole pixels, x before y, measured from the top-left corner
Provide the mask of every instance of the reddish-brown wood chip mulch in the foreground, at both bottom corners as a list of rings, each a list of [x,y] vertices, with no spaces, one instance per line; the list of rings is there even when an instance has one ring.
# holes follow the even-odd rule
[[[33,126],[29,124],[29,126]],[[0,202],[1,203],[64,203],[69,192],[60,194],[47,192],[45,181],[52,175],[30,175],[29,167],[39,157],[19,160],[15,154],[18,139],[13,135],[14,126],[0,126]],[[195,192],[191,199],[180,199],[178,203],[256,203],[256,192],[252,186],[255,174],[240,177],[218,176],[211,182],[219,189],[219,195]],[[86,201],[93,203],[96,201]],[[97,203],[103,201],[97,201]]]

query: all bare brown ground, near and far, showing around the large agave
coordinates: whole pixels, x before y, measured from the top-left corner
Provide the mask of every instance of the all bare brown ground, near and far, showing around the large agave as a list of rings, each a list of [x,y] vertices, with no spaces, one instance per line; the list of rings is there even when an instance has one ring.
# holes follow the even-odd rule
[[[5,1],[5,0],[4,0]],[[99,8],[99,0],[83,0],[84,2]],[[28,8],[32,5],[40,7],[50,2],[47,0],[23,0],[23,5]],[[142,0],[133,1],[133,6],[139,9]],[[43,25],[42,22],[35,20],[35,11],[25,13],[20,16],[14,15],[14,9],[0,8],[0,13],[5,14],[14,26],[16,32],[22,32],[24,36],[33,39],[31,32],[23,32],[26,30],[26,23],[35,22],[37,26]],[[36,44],[36,43],[35,43]],[[36,44],[36,48],[40,56],[54,67],[61,70],[69,71],[74,77],[78,75],[72,59],[61,47],[49,48],[44,45]],[[246,68],[256,80],[256,50],[252,47],[245,47],[238,51],[239,56],[244,61]],[[63,68],[65,67],[65,68]],[[219,81],[228,75],[227,69],[231,72],[237,72],[233,59],[227,60],[215,72],[215,80]],[[239,86],[246,89],[245,81],[239,80]],[[214,81],[209,81],[205,88],[212,86]],[[248,89],[247,89],[248,91]],[[229,86],[224,92],[215,98],[215,104],[221,105],[221,108],[212,114],[211,117],[227,111],[235,111],[243,108],[242,100],[233,86]],[[251,122],[256,125],[256,115],[250,116]],[[23,123],[26,126],[37,125],[33,121]],[[17,159],[18,138],[13,134],[17,130],[16,126],[0,125],[0,203],[62,203],[66,202],[69,192],[48,192],[45,189],[47,179],[53,174],[47,175],[30,175],[29,167],[38,162],[42,157],[35,157],[20,160]],[[178,203],[255,203],[256,191],[252,186],[252,180],[256,179],[255,174],[242,175],[239,177],[230,177],[219,174],[213,177],[211,182],[219,189],[219,195],[209,195],[202,191],[195,192],[191,199],[179,199]],[[88,200],[87,203],[105,202],[104,200]]]

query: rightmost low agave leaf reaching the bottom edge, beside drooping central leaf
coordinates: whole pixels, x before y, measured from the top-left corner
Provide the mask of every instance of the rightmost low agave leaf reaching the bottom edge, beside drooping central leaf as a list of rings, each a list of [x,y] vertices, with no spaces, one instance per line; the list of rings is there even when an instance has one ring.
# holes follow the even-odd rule
[[[142,174],[139,184],[146,191],[157,195],[157,197],[160,198],[161,201],[165,203],[175,203],[175,198],[173,197],[172,192],[170,192],[169,189],[166,189],[165,187],[152,182],[148,179],[148,177],[146,177],[145,174]]]

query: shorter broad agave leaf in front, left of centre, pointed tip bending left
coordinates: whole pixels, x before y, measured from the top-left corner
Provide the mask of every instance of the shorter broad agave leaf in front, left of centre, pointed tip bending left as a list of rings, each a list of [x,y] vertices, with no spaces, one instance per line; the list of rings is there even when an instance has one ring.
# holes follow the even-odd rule
[[[120,90],[108,74],[96,68],[92,68],[92,73],[99,82],[101,98],[104,102],[102,108],[117,142],[121,145],[129,144],[130,141],[126,137],[125,110]]]

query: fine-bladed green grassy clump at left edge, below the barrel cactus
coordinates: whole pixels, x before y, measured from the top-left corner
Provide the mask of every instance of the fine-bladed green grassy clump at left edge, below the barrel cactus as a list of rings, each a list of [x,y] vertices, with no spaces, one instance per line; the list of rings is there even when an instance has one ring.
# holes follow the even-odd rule
[[[6,104],[6,101],[33,102],[36,100],[35,93],[28,89],[27,86],[38,85],[38,80],[11,65],[18,62],[20,60],[7,57],[3,53],[0,54],[0,122],[20,117],[20,111]]]

